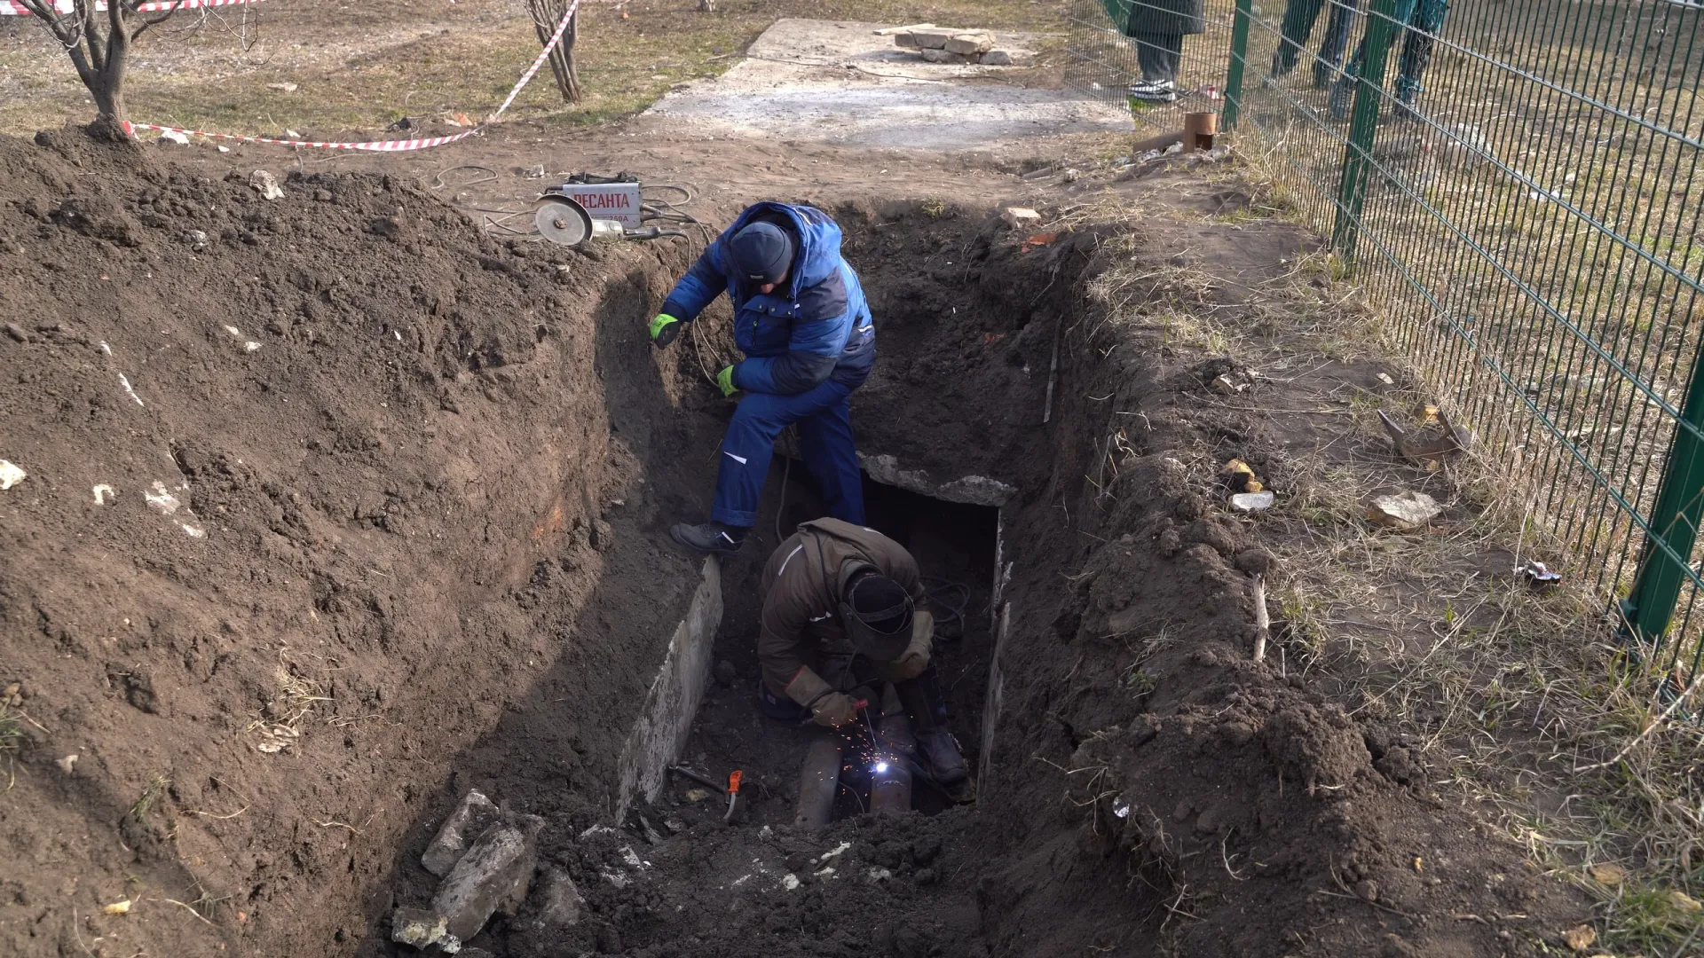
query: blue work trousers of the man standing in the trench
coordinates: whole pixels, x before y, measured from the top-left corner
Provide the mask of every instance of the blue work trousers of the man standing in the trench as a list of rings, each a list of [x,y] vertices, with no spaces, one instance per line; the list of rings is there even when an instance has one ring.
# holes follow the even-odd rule
[[[797,395],[748,392],[722,436],[722,462],[716,472],[716,508],[711,518],[724,525],[757,525],[757,501],[769,479],[775,436],[799,424],[799,452],[828,499],[828,515],[864,525],[864,477],[852,448],[852,387],[825,382]]]

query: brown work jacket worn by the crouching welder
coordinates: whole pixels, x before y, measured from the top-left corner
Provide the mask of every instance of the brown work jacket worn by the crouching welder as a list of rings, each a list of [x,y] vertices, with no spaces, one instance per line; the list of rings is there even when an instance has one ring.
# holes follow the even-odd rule
[[[912,593],[917,609],[927,595],[917,559],[903,545],[862,525],[820,518],[799,527],[763,566],[760,590],[763,626],[757,658],[770,692],[786,697],[801,670],[820,670],[825,658],[850,660],[852,643],[840,627],[840,566],[862,559]],[[828,677],[825,677],[828,678]],[[828,678],[830,685],[837,682]],[[842,689],[845,690],[845,689]]]

